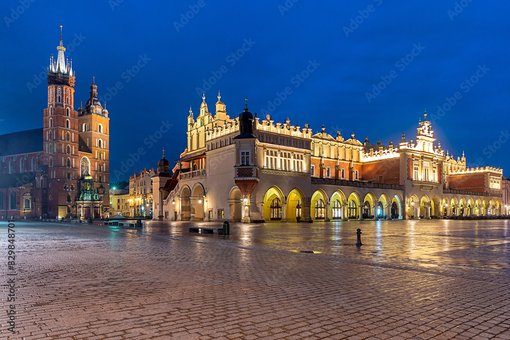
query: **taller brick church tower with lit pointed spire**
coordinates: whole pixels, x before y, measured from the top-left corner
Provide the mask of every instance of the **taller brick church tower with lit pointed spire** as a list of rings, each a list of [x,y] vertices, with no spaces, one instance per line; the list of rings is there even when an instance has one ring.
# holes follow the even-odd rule
[[[49,218],[71,214],[80,159],[78,155],[78,112],[74,111],[72,62],[65,59],[60,25],[57,60],[50,58],[48,100],[44,109],[43,162],[47,168],[47,214]],[[44,205],[43,205],[44,206]]]

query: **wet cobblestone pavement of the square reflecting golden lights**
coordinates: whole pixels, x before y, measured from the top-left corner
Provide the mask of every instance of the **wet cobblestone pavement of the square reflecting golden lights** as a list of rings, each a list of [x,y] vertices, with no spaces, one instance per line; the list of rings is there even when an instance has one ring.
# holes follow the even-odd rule
[[[189,225],[16,222],[11,333],[0,222],[0,338],[510,339],[508,220]]]

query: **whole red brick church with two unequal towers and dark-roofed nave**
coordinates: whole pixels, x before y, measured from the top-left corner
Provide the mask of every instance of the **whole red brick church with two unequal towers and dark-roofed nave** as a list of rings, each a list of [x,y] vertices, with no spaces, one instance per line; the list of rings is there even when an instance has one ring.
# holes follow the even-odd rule
[[[62,28],[62,26],[61,26]],[[50,58],[43,127],[0,136],[0,216],[101,218],[109,214],[108,111],[90,85],[74,110],[75,74],[62,42]]]

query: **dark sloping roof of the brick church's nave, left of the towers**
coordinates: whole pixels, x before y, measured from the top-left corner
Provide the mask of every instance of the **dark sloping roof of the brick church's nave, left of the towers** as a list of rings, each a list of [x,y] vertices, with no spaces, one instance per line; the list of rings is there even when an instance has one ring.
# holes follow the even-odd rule
[[[42,127],[0,136],[0,156],[42,152]]]

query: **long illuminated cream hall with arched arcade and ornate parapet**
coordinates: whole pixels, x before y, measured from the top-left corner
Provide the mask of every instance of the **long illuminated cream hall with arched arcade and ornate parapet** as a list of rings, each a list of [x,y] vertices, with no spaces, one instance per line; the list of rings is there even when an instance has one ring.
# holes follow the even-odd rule
[[[152,177],[154,218],[196,221],[411,219],[501,214],[495,167],[468,168],[420,120],[415,140],[371,144],[312,133],[248,105],[231,118],[218,95],[187,119],[187,148],[173,174],[164,157]],[[247,102],[247,101],[246,101]]]

